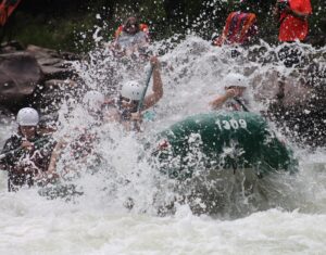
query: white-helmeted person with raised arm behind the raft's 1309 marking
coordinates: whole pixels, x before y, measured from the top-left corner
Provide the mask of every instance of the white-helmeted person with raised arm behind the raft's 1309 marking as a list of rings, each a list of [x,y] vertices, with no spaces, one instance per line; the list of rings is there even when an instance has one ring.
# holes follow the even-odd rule
[[[230,73],[224,79],[225,93],[217,95],[210,102],[213,110],[225,109],[228,111],[246,111],[248,112],[248,98],[246,90],[248,88],[248,79],[240,74]]]

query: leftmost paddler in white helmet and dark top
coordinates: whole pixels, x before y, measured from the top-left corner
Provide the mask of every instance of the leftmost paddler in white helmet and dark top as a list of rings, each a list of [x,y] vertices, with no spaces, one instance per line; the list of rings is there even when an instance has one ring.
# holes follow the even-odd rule
[[[48,167],[55,141],[38,132],[37,111],[21,109],[16,122],[18,131],[5,141],[0,157],[0,169],[8,171],[8,190],[54,181],[59,176]]]

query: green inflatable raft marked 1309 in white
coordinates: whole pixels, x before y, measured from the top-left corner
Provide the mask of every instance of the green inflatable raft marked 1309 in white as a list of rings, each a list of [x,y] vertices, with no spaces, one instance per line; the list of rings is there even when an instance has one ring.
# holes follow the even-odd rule
[[[214,112],[190,116],[159,135],[155,154],[171,178],[191,178],[198,169],[252,168],[259,177],[271,171],[297,171],[292,151],[250,112]]]

